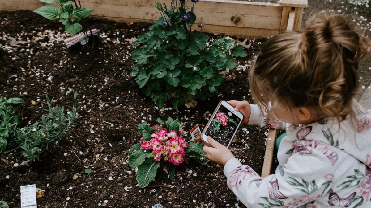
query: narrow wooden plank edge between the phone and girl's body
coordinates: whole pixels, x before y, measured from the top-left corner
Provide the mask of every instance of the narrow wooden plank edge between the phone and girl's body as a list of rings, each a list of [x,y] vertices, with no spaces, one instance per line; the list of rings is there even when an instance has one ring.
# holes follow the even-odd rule
[[[277,130],[274,128],[270,128],[268,132],[268,137],[267,137],[267,146],[265,148],[262,178],[265,178],[268,175],[270,175],[270,170],[272,169],[273,152],[275,149],[276,137],[277,137]]]

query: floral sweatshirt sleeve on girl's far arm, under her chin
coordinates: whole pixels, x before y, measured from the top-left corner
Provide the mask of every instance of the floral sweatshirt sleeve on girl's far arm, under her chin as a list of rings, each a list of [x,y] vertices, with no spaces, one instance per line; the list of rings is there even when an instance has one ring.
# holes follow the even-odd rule
[[[259,125],[263,128],[278,128],[284,130],[288,124],[284,123],[283,121],[279,120],[275,115],[272,115],[268,118],[268,115],[262,115],[260,113],[259,107],[254,104],[250,104],[251,106],[251,113],[250,119],[247,123],[248,125]]]

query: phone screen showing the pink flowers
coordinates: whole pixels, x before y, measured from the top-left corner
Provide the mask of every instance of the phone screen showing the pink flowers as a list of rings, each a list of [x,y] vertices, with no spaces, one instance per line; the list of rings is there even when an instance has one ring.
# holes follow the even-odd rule
[[[227,107],[220,105],[205,134],[227,147],[240,121],[241,118],[230,112]]]

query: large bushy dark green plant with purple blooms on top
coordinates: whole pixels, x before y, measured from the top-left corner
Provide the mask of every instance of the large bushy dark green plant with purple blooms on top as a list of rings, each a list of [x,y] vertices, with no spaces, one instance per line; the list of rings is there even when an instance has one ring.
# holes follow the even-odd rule
[[[210,42],[210,37],[191,30],[196,15],[193,1],[187,11],[185,0],[173,0],[171,9],[156,3],[161,17],[150,32],[138,37],[131,54],[137,64],[131,75],[146,96],[158,107],[172,100],[173,108],[193,99],[204,100],[217,93],[224,81],[221,72],[236,67],[235,58],[246,56],[242,46],[226,37]],[[198,27],[203,27],[198,24]]]

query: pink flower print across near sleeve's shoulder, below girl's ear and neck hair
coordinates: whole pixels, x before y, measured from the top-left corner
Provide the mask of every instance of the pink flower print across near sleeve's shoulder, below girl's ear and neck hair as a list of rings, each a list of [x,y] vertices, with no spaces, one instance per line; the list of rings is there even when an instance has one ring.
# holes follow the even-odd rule
[[[332,165],[338,160],[338,154],[331,145],[321,143],[319,141],[311,140],[299,140],[292,143],[292,147],[295,148],[294,153],[303,154],[312,154],[313,149],[318,150],[324,154]]]

